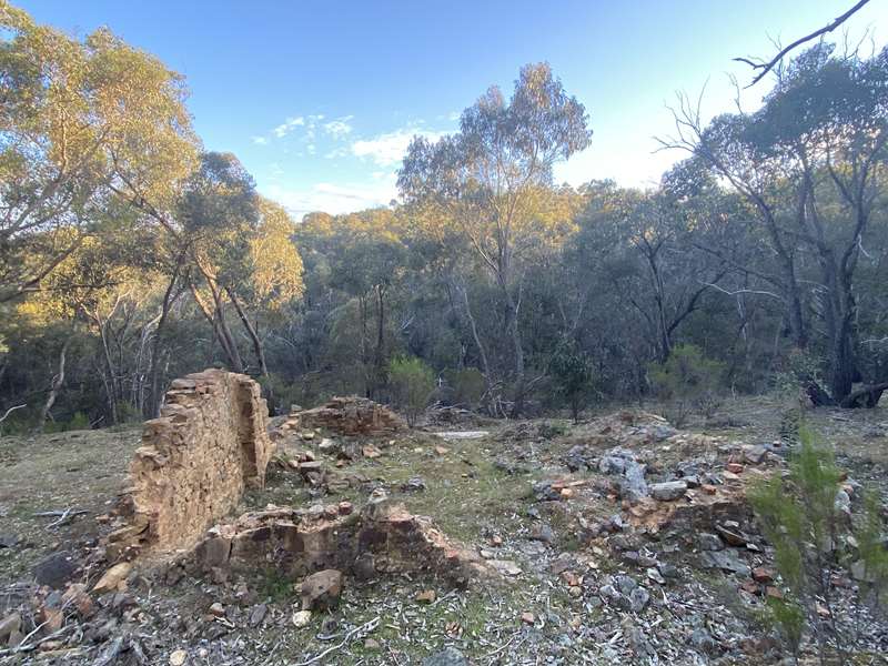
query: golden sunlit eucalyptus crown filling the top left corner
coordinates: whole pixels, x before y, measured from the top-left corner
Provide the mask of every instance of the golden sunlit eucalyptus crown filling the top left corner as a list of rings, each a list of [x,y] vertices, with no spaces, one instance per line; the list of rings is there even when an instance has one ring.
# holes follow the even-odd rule
[[[113,199],[162,208],[192,168],[182,79],[107,29],[82,41],[0,0],[0,301],[39,291]]]

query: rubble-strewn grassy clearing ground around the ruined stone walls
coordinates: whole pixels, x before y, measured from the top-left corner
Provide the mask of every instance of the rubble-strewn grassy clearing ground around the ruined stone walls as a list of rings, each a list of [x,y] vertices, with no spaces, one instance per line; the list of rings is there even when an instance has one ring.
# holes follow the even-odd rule
[[[683,431],[640,411],[579,425],[450,414],[373,437],[290,428],[266,487],[235,514],[386,494],[496,572],[464,588],[431,572],[346,572],[329,604],[303,604],[303,581],[268,562],[100,581],[97,546],[139,431],[6,437],[0,664],[777,663],[763,607],[780,581],[744,500],[784,465],[770,405],[737,401]],[[859,484],[888,497],[888,408],[809,420],[849,471],[852,508]],[[835,576],[836,620],[859,635],[857,663],[886,663],[888,618],[854,605],[855,586]]]

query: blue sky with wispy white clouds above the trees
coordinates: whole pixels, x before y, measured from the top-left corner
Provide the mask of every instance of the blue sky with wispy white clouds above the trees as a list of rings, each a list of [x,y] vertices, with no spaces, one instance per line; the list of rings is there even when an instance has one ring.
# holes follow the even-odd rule
[[[589,114],[592,145],[557,182],[654,186],[683,154],[676,94],[705,118],[735,108],[738,56],[769,58],[852,0],[12,0],[85,36],[107,26],[186,78],[208,150],[233,152],[264,195],[301,216],[385,205],[411,138],[458,129],[490,85],[548,61]],[[835,39],[880,48],[888,0],[870,0]],[[867,42],[870,43],[870,42]],[[765,82],[743,90],[754,109]]]

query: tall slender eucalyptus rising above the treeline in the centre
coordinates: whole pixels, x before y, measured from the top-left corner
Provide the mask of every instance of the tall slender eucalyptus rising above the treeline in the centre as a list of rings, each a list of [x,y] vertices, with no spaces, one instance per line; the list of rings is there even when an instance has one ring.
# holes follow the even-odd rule
[[[527,389],[519,261],[547,232],[535,214],[538,196],[552,184],[553,165],[588,145],[587,120],[548,64],[526,65],[508,101],[491,88],[463,112],[457,133],[436,143],[415,138],[398,172],[404,199],[441,209],[498,287],[514,356],[514,415]]]

